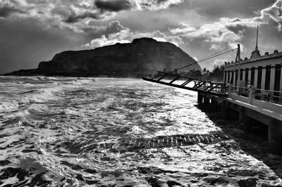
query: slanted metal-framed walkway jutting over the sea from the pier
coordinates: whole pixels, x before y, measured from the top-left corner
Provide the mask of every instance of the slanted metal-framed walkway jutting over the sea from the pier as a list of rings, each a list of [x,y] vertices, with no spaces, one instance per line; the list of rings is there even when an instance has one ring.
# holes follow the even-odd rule
[[[223,83],[209,82],[201,79],[194,79],[190,77],[184,77],[181,75],[173,74],[171,72],[159,72],[158,75],[152,78],[142,77],[143,80],[148,82],[155,82],[158,84],[164,84],[167,86],[173,86],[180,89],[188,89],[192,91],[198,91],[200,93],[207,93],[213,96],[226,97],[226,87]],[[178,82],[176,82],[178,80]],[[190,82],[195,84],[191,86]]]

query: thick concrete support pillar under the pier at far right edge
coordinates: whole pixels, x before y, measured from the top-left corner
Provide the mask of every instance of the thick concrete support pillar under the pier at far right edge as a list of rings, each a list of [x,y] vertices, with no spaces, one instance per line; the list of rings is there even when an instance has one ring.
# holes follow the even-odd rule
[[[282,154],[282,123],[278,120],[269,123],[269,151]]]

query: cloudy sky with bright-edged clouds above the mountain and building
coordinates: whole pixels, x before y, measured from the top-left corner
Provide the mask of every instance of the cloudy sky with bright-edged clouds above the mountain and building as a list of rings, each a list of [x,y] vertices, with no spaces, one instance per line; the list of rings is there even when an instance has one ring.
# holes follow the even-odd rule
[[[0,74],[37,68],[56,53],[152,37],[195,60],[241,45],[282,51],[282,0],[0,0]],[[226,53],[200,63],[235,60]],[[177,68],[177,67],[176,67]]]

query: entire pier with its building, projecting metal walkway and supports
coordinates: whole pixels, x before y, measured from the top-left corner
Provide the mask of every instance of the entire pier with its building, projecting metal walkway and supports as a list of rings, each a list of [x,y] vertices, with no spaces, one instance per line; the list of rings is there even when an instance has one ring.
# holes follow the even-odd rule
[[[269,151],[282,154],[282,52],[261,56],[256,46],[250,59],[240,59],[240,45],[235,62],[225,63],[224,82],[184,77],[173,72],[158,72],[142,79],[197,91],[197,103],[220,107],[223,119],[238,112],[238,122],[252,131],[257,121],[268,127]]]

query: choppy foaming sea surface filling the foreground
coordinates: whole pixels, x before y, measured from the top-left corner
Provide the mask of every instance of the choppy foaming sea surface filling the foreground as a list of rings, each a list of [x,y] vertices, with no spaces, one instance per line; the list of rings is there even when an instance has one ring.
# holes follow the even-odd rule
[[[196,100],[140,79],[0,77],[0,186],[281,186],[265,134]]]

